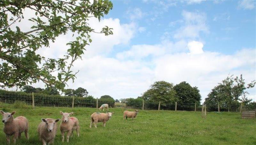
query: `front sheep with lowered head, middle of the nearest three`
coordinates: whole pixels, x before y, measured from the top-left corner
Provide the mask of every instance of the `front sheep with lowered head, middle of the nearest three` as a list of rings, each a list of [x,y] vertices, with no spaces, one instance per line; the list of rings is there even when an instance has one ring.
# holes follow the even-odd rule
[[[54,142],[57,133],[57,122],[60,121],[60,119],[42,118],[41,120],[42,122],[37,127],[39,139],[42,141],[43,145],[47,143],[51,144]]]

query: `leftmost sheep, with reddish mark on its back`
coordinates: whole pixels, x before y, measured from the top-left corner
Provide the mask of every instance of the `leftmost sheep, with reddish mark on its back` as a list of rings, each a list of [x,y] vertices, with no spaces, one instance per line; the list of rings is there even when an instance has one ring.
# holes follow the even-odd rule
[[[3,115],[2,122],[4,123],[4,133],[6,135],[6,141],[10,144],[10,137],[13,135],[13,143],[16,143],[16,139],[21,137],[21,133],[25,132],[26,139],[28,140],[28,119],[24,116],[18,116],[13,119],[12,113],[5,113],[4,111],[0,110],[1,114]]]

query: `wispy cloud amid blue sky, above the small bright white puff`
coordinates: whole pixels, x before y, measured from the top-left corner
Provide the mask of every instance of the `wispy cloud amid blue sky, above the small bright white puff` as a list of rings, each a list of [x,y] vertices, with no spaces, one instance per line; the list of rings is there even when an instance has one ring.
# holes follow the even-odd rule
[[[209,28],[206,25],[206,14],[199,12],[182,11],[182,16],[185,25],[181,26],[174,38],[198,38],[200,32],[209,33]]]

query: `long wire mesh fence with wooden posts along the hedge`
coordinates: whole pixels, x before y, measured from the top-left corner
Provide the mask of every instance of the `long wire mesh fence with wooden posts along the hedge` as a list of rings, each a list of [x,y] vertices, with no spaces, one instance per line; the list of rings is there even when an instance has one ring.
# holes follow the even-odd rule
[[[34,96],[34,97],[32,97]],[[196,103],[182,104],[179,102],[173,103],[161,103],[161,102],[124,102],[116,103],[115,101],[101,100],[86,97],[69,97],[69,96],[58,96],[58,95],[46,95],[40,93],[24,93],[24,92],[10,92],[0,90],[0,102],[13,104],[15,101],[22,101],[28,105],[37,107],[100,107],[102,104],[108,104],[109,107],[121,107],[127,109],[142,109],[142,110],[177,110],[177,111],[201,111],[202,105]],[[206,104],[207,112],[213,111],[241,111],[240,104],[234,104],[230,107],[227,105],[219,104]],[[218,109],[219,108],[219,109]],[[243,106],[246,109],[255,109],[256,106]]]

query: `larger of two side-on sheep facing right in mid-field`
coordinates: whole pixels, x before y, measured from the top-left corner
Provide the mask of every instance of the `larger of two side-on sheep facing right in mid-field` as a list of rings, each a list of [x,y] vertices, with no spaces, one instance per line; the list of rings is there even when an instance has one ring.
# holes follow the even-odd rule
[[[114,112],[108,112],[108,113],[99,113],[99,112],[94,112],[91,115],[91,124],[90,128],[92,128],[92,122],[94,123],[94,127],[97,128],[97,123],[98,122],[103,122],[103,126],[106,126],[106,122],[111,118],[112,114]]]

